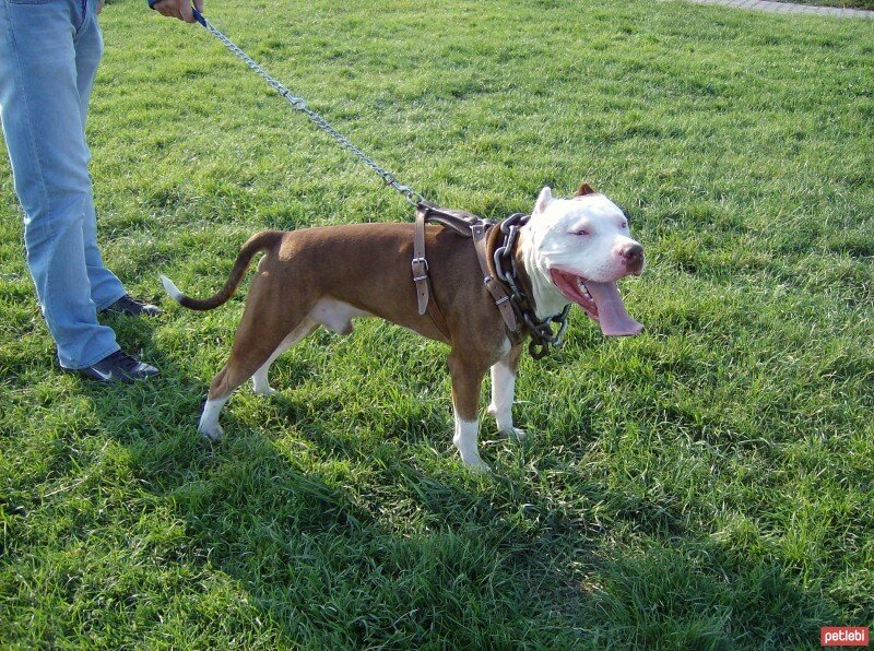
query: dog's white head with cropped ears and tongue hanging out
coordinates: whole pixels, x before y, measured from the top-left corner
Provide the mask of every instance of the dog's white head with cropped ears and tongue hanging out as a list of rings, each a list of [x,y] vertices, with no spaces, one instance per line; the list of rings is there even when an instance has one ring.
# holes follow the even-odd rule
[[[538,316],[579,305],[606,335],[638,334],[643,326],[625,310],[616,281],[643,271],[643,247],[631,239],[628,217],[588,184],[572,199],[543,188],[522,229],[521,255]]]

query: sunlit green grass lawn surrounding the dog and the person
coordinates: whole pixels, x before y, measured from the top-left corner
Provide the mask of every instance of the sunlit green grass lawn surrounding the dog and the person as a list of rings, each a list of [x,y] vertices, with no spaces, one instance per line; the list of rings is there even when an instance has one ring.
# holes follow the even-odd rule
[[[197,26],[104,12],[88,135],[105,258],[160,381],[57,372],[0,169],[0,646],[818,647],[874,625],[874,23],[682,2],[214,3],[429,198],[625,205],[647,324],[525,359],[523,446],[464,471],[445,348],[363,322],[194,431],[264,227],[409,206]],[[472,281],[473,282],[473,281]],[[485,404],[485,399],[483,401]]]

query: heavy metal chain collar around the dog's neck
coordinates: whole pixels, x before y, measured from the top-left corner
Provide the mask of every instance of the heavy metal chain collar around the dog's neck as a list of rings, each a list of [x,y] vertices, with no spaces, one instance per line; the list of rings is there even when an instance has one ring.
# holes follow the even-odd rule
[[[534,359],[542,359],[550,352],[550,345],[560,348],[567,331],[567,317],[570,304],[565,306],[559,315],[539,319],[534,313],[533,300],[519,288],[519,276],[516,271],[516,250],[519,229],[524,226],[531,215],[515,213],[500,223],[500,233],[504,240],[495,249],[495,275],[510,288],[510,303],[517,318],[524,322],[531,334],[528,352]],[[552,323],[558,324],[558,332],[553,331]]]

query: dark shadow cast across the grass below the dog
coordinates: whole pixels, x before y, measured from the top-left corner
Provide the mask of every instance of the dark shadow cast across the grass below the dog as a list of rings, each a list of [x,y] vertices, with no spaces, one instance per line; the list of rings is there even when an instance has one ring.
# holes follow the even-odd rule
[[[631,499],[560,464],[534,467],[525,461],[531,443],[489,435],[500,448],[496,472],[468,472],[450,453],[445,404],[389,421],[375,454],[373,440],[321,422],[342,399],[312,404],[277,386],[251,415],[237,416],[232,401],[225,438],[206,441],[196,433],[203,379],[160,347],[150,355],[158,381],[113,388],[118,401],[87,382],[82,390],[128,448],[147,499],[182,524],[165,523],[175,533],[147,544],[198,577],[177,590],[214,613],[199,625],[206,629],[257,630],[280,647],[719,647],[731,639],[732,618],[759,623],[756,639],[776,644],[783,634],[769,627],[783,611],[811,623],[831,614],[779,559],[737,569],[730,543],[687,531],[670,504]],[[287,356],[279,364],[294,378],[312,372]],[[135,422],[119,419],[121,402]],[[411,454],[424,440],[434,453],[427,464]],[[616,551],[610,541],[629,529],[651,541],[651,553]],[[724,579],[700,569],[705,556],[721,559]],[[734,594],[732,582],[782,602],[768,612],[761,596]],[[698,593],[717,603],[701,605]],[[728,619],[725,604],[734,608]]]

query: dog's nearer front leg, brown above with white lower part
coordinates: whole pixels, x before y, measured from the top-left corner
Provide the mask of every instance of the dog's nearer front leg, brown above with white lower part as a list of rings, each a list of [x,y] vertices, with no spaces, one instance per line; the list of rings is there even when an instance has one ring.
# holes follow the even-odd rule
[[[452,411],[456,418],[452,442],[458,448],[461,460],[471,470],[488,472],[491,469],[480,458],[477,448],[480,423],[476,417],[486,367],[479,368],[479,365],[465,362],[454,353],[449,355],[448,362],[452,376]]]

